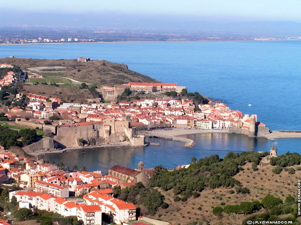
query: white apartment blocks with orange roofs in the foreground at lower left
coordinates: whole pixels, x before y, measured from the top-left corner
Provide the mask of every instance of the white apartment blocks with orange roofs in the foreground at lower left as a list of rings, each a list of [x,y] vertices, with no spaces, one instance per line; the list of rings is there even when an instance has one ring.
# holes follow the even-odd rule
[[[23,161],[21,165],[19,162]],[[12,167],[5,169],[2,167],[10,162]],[[137,180],[124,181],[117,179],[112,181],[113,176],[102,176],[101,171],[94,172],[69,172],[57,168],[49,168],[43,160],[38,158],[18,157],[15,153],[6,152],[4,149],[0,152],[0,172],[2,176],[10,175],[10,179],[15,179],[17,184],[23,185],[23,190],[9,192],[9,199],[15,196],[19,202],[19,208],[38,208],[39,210],[52,211],[62,216],[76,216],[81,224],[96,225],[102,224],[102,215],[107,215],[112,222],[122,224],[135,221],[136,207],[131,202],[125,202],[113,197],[112,188],[120,186],[121,188],[136,185]],[[119,165],[118,165],[119,166]],[[144,169],[142,162],[138,164],[136,170],[119,166],[118,169],[128,170],[135,175],[144,174],[149,179],[153,174],[153,169]],[[116,165],[110,168],[115,171]],[[45,172],[43,172],[45,171]],[[147,171],[147,172],[146,172]],[[39,176],[36,176],[36,175]],[[34,190],[25,185],[29,182],[21,180],[24,175],[28,177],[39,177],[43,181],[34,182]],[[23,178],[24,179],[24,178]],[[8,181],[9,182],[9,181]],[[110,184],[110,188],[103,184]],[[77,190],[80,190],[79,192]],[[77,196],[82,201],[74,198]]]

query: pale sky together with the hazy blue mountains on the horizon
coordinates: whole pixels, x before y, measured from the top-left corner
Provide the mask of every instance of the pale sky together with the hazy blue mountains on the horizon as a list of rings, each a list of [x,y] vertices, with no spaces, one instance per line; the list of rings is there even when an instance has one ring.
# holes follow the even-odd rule
[[[301,1],[13,0],[2,3],[0,20],[12,25],[301,36]]]

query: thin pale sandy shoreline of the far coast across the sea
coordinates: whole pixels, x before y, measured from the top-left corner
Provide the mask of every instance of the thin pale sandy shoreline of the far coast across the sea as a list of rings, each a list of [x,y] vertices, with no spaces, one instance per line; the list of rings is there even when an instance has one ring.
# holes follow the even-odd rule
[[[23,43],[23,44],[0,44],[0,46],[8,46],[8,45],[35,45],[35,44],[106,44],[106,43],[176,43],[176,42],[253,42],[253,41],[301,41],[298,39],[294,40],[225,40],[225,41],[212,41],[212,40],[200,40],[200,41],[95,41],[95,42],[55,42],[55,43]]]

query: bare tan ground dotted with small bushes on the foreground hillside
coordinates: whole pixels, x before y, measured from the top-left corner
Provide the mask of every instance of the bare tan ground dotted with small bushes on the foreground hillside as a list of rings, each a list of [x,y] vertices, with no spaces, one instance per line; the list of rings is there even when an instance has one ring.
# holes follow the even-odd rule
[[[272,173],[272,169],[276,166],[267,165],[258,167],[258,171],[253,171],[252,164],[247,163],[244,166],[244,171],[237,173],[234,178],[243,184],[243,187],[250,189],[250,194],[229,193],[235,188],[219,187],[212,189],[206,187],[200,196],[194,198],[191,196],[187,202],[175,202],[175,197],[172,190],[163,191],[157,188],[165,196],[165,202],[169,204],[167,209],[158,208],[157,213],[153,216],[155,219],[169,221],[169,223],[176,225],[184,225],[194,221],[197,224],[216,224],[216,225],[241,225],[242,221],[250,216],[250,214],[226,214],[222,217],[216,217],[212,214],[213,207],[225,205],[239,205],[243,201],[259,202],[267,195],[273,195],[285,201],[287,196],[296,197],[297,183],[301,176],[301,171],[296,170],[296,174],[289,174],[287,171],[282,171],[280,174]],[[292,166],[297,169],[299,165]],[[262,208],[259,212],[263,213],[265,209]],[[289,216],[282,215],[282,216]],[[206,223],[206,220],[210,223]],[[199,223],[200,222],[200,223]],[[300,221],[299,221],[300,222]]]

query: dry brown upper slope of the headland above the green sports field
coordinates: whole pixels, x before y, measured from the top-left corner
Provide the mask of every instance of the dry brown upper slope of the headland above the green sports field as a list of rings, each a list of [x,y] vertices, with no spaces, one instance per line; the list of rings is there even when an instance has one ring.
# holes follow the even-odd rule
[[[157,80],[128,70],[127,65],[112,63],[105,60],[92,60],[88,62],[78,62],[77,59],[33,59],[33,58],[0,58],[0,63],[17,65],[22,69],[29,67],[65,67],[65,68],[48,68],[38,71],[31,70],[35,73],[55,73],[61,76],[75,80],[85,80],[87,82],[99,85],[116,85],[127,82],[157,82]]]

